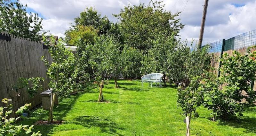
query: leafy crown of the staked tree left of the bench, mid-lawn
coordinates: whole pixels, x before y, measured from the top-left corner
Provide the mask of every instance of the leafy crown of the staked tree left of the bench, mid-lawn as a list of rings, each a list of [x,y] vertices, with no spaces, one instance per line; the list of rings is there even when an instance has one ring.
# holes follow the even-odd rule
[[[94,45],[89,45],[89,65],[97,82],[113,76],[116,79],[121,73],[122,58],[120,44],[112,36],[97,37]],[[117,85],[117,82],[116,82]],[[117,87],[117,86],[116,86]]]

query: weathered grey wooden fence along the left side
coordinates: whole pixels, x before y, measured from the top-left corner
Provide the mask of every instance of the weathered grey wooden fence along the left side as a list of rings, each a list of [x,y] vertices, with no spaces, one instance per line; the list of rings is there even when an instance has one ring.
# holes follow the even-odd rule
[[[12,99],[14,111],[26,103],[34,107],[42,102],[40,93],[48,88],[49,79],[46,78],[46,66],[41,56],[52,62],[51,54],[42,43],[7,33],[0,34],[0,99]],[[43,77],[44,89],[39,90],[33,98],[29,97],[26,90],[16,92],[12,86],[20,77]],[[0,106],[3,106],[2,102]]]

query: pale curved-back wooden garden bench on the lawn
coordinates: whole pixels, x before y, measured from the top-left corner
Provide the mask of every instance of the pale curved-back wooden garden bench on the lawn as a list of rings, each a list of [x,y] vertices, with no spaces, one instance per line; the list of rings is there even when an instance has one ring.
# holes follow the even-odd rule
[[[157,83],[159,83],[159,88],[161,88],[162,77],[163,77],[163,74],[161,73],[152,73],[152,74],[144,75],[141,77],[142,87],[143,87],[143,82],[148,82],[148,86],[150,83],[151,87],[153,82],[153,83],[156,83],[156,86],[157,86]]]

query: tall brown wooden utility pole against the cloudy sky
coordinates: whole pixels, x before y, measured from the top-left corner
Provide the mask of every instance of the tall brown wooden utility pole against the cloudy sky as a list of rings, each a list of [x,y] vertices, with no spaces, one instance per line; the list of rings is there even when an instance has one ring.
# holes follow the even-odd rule
[[[207,8],[208,8],[208,2],[209,2],[209,0],[204,1],[204,12],[203,12],[203,18],[202,18],[202,23],[201,23],[199,41],[198,41],[199,48],[202,47],[202,41],[203,41],[203,37],[204,37],[204,25],[205,25],[205,18],[206,18],[206,13],[207,13]]]

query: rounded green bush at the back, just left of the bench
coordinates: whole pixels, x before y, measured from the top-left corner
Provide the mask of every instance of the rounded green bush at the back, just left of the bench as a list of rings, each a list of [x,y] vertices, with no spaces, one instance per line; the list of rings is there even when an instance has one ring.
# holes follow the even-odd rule
[[[140,76],[142,52],[133,47],[125,46],[121,56],[123,57],[123,75],[130,79],[138,78]]]

